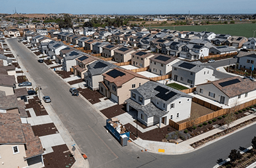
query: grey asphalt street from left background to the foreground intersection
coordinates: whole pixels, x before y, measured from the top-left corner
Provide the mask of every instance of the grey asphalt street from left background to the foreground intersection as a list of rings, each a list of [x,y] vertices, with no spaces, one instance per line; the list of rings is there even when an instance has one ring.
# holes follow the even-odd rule
[[[251,145],[256,136],[256,125],[243,129],[216,143],[184,155],[158,155],[141,152],[135,144],[122,147],[111,134],[106,133],[104,118],[81,97],[73,97],[67,83],[44,64],[37,62],[17,39],[8,39],[19,61],[31,78],[42,87],[44,95],[52,99],[51,106],[81,150],[88,155],[90,167],[213,167],[219,158],[226,159],[232,149]],[[216,64],[216,65],[215,65]],[[218,63],[222,64],[221,62]],[[211,66],[218,66],[217,62]],[[35,83],[33,83],[35,87]]]

